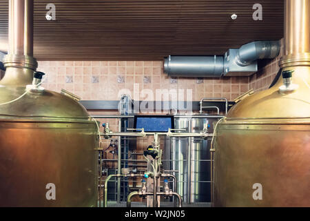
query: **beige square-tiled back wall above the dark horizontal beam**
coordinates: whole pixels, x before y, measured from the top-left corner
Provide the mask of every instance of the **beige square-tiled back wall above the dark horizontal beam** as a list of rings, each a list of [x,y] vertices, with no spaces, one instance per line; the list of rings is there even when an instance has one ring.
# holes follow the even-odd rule
[[[163,74],[162,61],[39,61],[38,70],[46,73],[45,88],[58,92],[64,88],[92,100],[117,100],[118,92],[124,88],[130,90],[132,97],[135,88],[135,95],[140,93],[141,100],[146,99],[141,94],[143,89],[152,90],[154,99],[158,89],[175,90],[187,99],[189,89],[195,101],[202,97],[231,100],[249,90],[249,77],[171,79]]]

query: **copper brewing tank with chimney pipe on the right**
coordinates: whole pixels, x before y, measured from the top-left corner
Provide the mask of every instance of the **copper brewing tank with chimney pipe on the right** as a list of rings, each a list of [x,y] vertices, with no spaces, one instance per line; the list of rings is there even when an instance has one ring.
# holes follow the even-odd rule
[[[310,206],[310,1],[285,1],[283,78],[249,95],[218,123],[214,206]]]

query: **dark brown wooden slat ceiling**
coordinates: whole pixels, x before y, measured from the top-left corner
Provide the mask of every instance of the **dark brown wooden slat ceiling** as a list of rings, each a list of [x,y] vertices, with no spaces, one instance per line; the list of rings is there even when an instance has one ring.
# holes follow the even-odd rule
[[[252,6],[262,5],[262,21]],[[45,19],[47,3],[56,20]],[[223,55],[255,40],[281,39],[283,0],[34,0],[38,60],[160,60]],[[231,15],[238,19],[233,21]],[[0,0],[0,50],[8,40],[8,0]]]

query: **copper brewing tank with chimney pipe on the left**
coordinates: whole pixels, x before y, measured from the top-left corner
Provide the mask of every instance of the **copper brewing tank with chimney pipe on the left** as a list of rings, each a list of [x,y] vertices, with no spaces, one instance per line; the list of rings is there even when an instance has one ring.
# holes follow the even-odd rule
[[[37,68],[33,1],[9,4],[0,81],[0,206],[96,206],[96,123],[67,95],[43,88],[25,93]]]

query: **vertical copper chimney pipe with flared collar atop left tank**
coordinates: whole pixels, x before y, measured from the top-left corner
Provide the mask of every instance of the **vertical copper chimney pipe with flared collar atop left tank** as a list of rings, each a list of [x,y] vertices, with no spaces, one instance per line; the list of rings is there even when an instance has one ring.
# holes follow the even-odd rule
[[[33,56],[33,0],[9,1],[8,55],[3,57],[6,75],[1,84],[32,84],[37,60]]]

